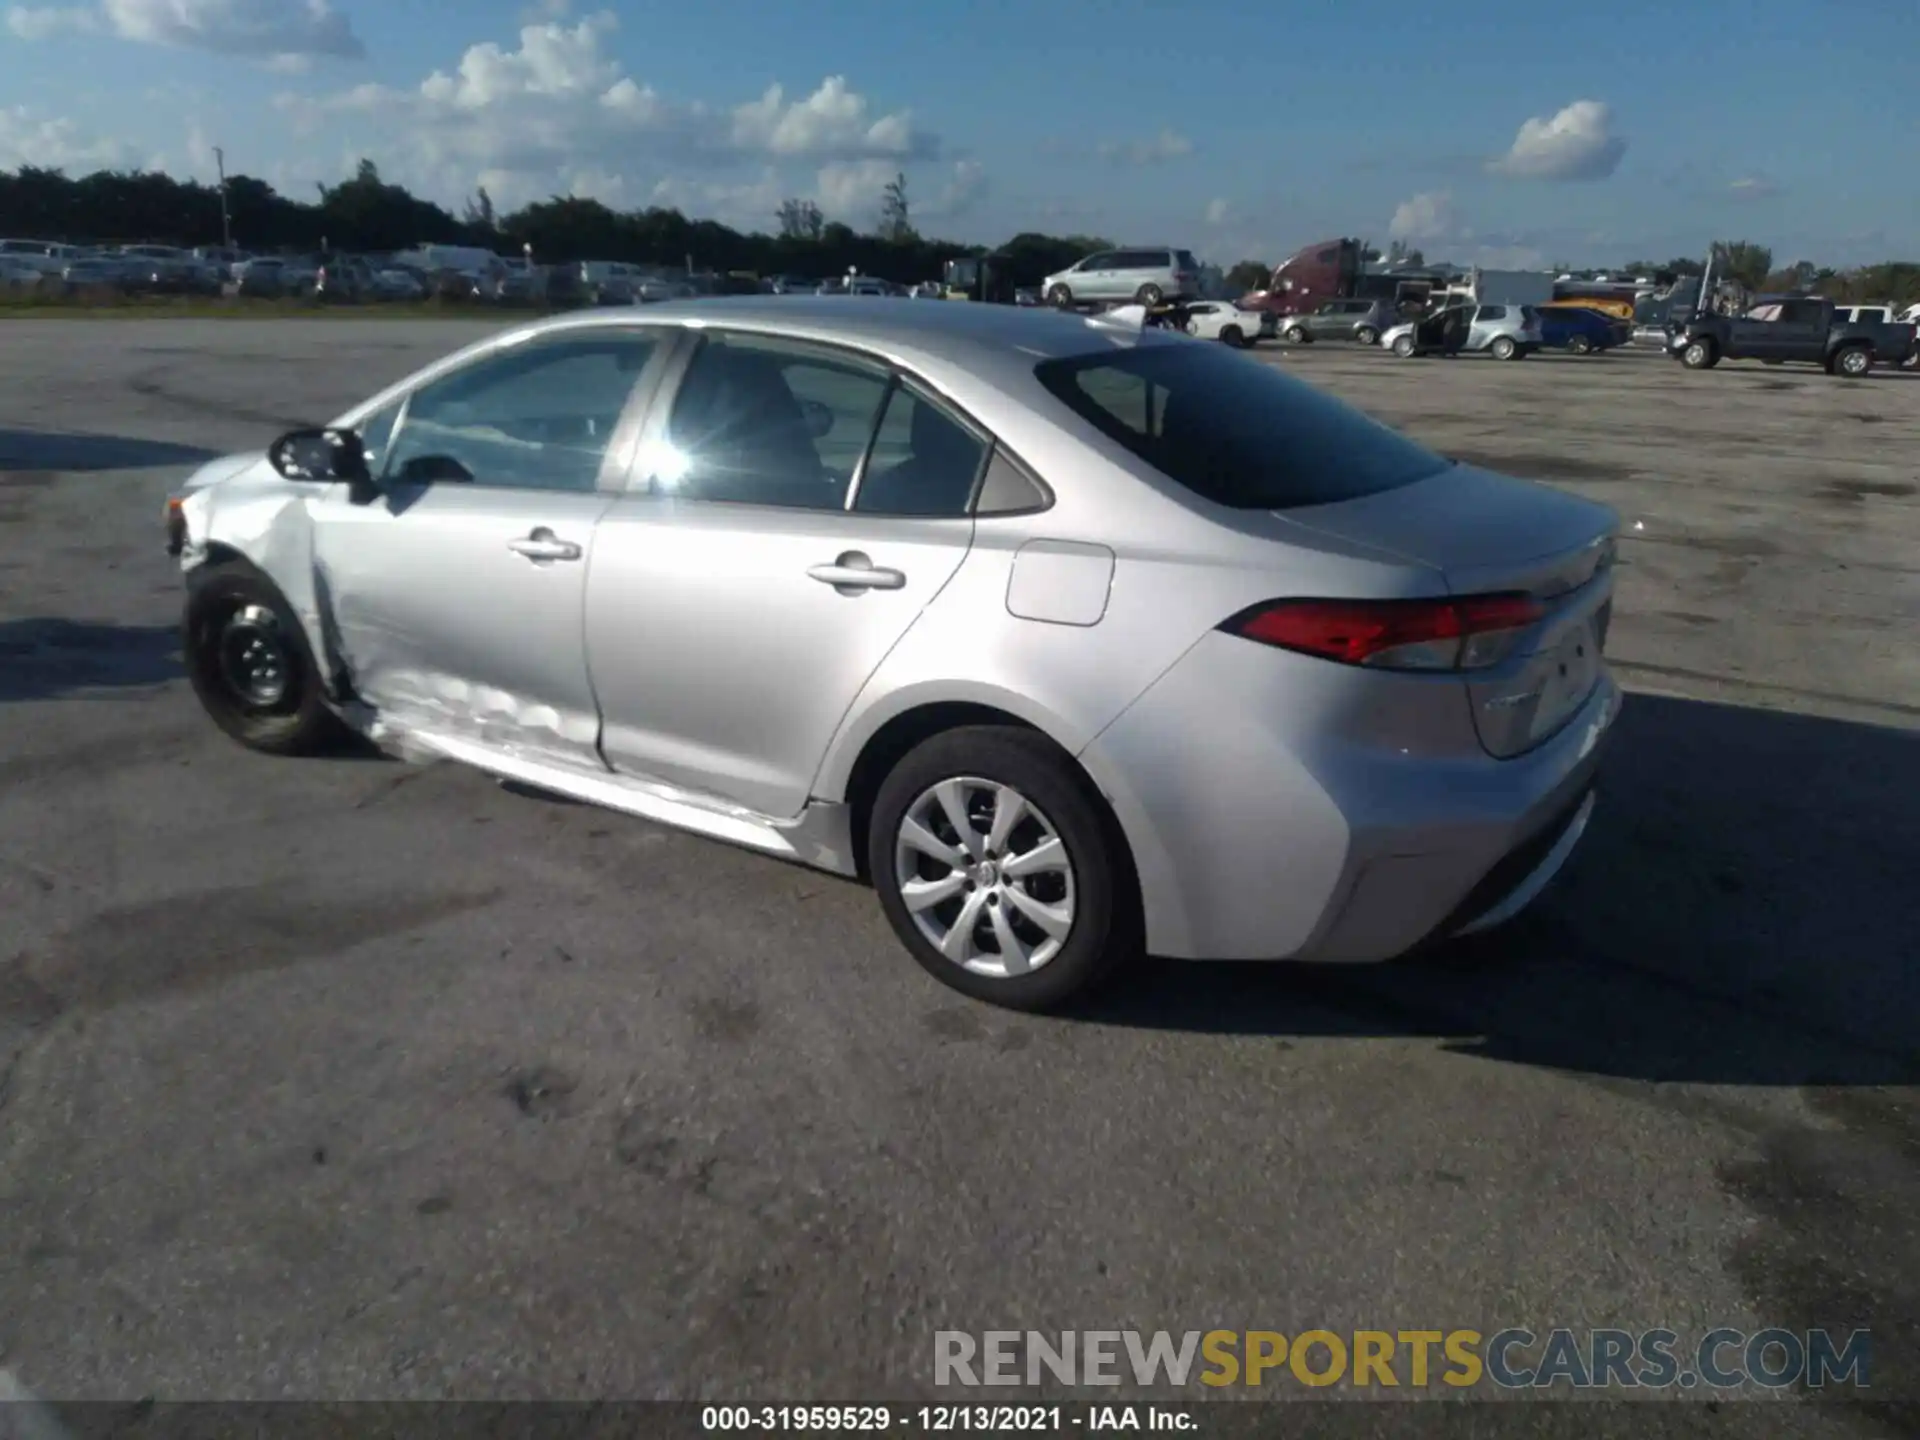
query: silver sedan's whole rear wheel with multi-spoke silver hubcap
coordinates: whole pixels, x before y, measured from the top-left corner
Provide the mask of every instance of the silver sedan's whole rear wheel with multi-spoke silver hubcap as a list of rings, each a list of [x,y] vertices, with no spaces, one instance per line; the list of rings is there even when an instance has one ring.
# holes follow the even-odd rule
[[[968,726],[910,751],[874,801],[868,864],[914,960],[977,1000],[1052,1010],[1140,945],[1117,828],[1033,732]]]

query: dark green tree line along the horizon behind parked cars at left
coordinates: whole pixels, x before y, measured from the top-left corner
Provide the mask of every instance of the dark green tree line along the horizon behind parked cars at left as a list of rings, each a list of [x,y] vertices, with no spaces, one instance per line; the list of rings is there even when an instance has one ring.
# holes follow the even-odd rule
[[[480,190],[455,215],[392,184],[363,159],[338,184],[317,184],[296,200],[252,175],[219,184],[179,180],[152,171],[98,171],[69,177],[58,169],[0,171],[0,234],[75,244],[232,244],[255,253],[386,253],[419,244],[484,246],[530,253],[536,263],[580,259],[755,275],[835,276],[856,269],[912,284],[939,278],[945,261],[985,253],[983,246],[922,236],[914,227],[906,177],[879,196],[879,223],[858,232],[828,221],[810,200],[787,200],[770,232],[739,232],[720,221],[693,219],[653,205],[620,211],[599,200],[555,196],[507,215]],[[1023,232],[998,246],[1014,284],[1039,284],[1092,250],[1100,236]]]

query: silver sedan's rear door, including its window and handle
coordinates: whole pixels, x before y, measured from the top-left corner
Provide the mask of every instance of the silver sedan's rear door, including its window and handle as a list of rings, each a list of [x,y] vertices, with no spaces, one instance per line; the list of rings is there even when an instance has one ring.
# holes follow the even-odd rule
[[[603,753],[791,818],[966,557],[989,445],[843,349],[707,330],[668,384],[588,578]]]

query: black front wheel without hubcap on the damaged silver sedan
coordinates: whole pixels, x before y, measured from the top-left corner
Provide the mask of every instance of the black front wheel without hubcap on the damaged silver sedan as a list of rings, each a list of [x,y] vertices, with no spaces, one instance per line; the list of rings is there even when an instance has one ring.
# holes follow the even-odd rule
[[[273,655],[275,680],[244,685],[244,655]],[[338,745],[348,730],[326,708],[321,668],[305,630],[278,588],[244,561],[194,570],[180,616],[186,678],[207,716],[250,751],[313,755]],[[265,674],[269,666],[255,666]]]

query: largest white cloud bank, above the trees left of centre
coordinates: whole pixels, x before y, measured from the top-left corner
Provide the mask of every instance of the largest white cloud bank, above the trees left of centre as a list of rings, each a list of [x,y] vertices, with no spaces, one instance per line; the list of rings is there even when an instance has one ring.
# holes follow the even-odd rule
[[[515,48],[468,46],[451,71],[434,71],[415,88],[359,84],[324,96],[284,94],[276,106],[298,132],[346,132],[365,144],[384,173],[426,196],[470,194],[476,177],[492,171],[499,184],[490,192],[503,209],[566,194],[580,177],[634,198],[662,169],[772,163],[824,169],[824,180],[814,177],[822,196],[849,207],[864,186],[870,202],[858,213],[866,219],[895,171],[939,154],[935,136],[916,129],[908,111],[879,111],[845,77],[791,98],[774,84],[737,106],[666,96],[609,54],[605,40],[616,27],[611,13],[524,25]],[[881,169],[885,177],[868,184]],[[804,188],[797,182],[787,194]]]

